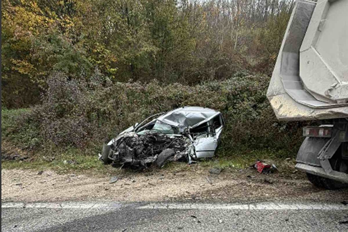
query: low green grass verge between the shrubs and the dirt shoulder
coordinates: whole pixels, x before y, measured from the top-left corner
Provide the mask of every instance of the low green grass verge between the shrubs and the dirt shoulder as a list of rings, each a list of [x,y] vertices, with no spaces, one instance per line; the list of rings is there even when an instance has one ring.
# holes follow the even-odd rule
[[[248,153],[232,153],[228,157],[223,156],[212,159],[202,159],[198,164],[206,168],[230,169],[230,168],[246,168],[253,164],[256,160],[266,160],[275,163],[277,166],[283,160],[278,154],[263,150],[251,151]],[[69,163],[73,161],[73,163]],[[77,149],[68,149],[66,151],[46,153],[40,151],[33,156],[31,161],[3,160],[1,162],[2,169],[34,169],[34,170],[55,170],[58,173],[84,173],[93,172],[106,174],[117,171],[117,168],[111,165],[103,165],[98,160],[97,154],[86,155]],[[173,171],[183,171],[190,169],[186,162],[171,162],[164,166],[165,169]]]

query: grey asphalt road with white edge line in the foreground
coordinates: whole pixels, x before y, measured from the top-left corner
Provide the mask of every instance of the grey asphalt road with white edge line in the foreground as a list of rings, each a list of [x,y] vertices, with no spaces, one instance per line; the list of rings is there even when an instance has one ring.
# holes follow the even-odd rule
[[[2,231],[348,231],[346,202],[2,202]]]

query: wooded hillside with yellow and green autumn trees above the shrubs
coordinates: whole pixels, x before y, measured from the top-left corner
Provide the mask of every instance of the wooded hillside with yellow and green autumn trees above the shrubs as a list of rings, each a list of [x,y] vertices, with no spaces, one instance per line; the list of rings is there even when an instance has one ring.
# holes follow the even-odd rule
[[[291,0],[2,0],[2,105],[40,102],[63,73],[104,81],[224,80],[269,75]]]

